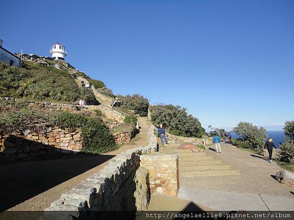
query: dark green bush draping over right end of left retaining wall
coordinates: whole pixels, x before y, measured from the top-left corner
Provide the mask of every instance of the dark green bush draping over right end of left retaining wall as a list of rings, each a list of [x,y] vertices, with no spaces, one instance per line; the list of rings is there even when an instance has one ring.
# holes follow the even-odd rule
[[[58,116],[57,125],[63,129],[81,129],[83,152],[103,154],[117,149],[113,135],[100,118],[62,112]]]

